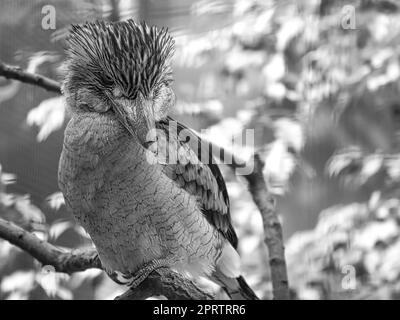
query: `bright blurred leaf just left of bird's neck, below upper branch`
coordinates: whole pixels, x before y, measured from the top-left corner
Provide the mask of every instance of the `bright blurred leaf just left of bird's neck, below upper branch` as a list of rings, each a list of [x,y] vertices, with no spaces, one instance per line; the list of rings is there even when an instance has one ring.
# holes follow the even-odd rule
[[[65,119],[65,99],[55,97],[42,101],[29,111],[26,122],[29,126],[38,126],[37,140],[42,142],[54,131],[60,129]]]

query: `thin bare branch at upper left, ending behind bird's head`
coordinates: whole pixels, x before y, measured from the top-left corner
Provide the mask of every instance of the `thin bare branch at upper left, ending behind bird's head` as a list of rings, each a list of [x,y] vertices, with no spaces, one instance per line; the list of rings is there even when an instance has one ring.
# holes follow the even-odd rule
[[[10,66],[0,61],[0,76],[7,79],[18,80],[23,83],[29,83],[39,86],[47,91],[61,94],[60,84],[42,75],[30,73],[22,70],[20,67]]]

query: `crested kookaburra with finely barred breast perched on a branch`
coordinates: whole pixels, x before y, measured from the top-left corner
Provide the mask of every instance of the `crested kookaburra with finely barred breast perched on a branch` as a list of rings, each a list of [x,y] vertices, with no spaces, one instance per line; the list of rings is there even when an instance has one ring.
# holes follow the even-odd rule
[[[117,283],[134,288],[169,268],[258,299],[210,144],[169,115],[174,48],[168,29],[132,19],[71,26],[60,190]]]

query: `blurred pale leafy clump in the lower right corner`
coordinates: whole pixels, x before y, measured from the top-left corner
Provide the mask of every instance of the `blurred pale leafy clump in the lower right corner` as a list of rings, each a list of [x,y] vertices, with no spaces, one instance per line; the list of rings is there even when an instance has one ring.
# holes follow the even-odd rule
[[[400,200],[323,211],[312,231],[287,243],[289,281],[299,299],[398,299]]]

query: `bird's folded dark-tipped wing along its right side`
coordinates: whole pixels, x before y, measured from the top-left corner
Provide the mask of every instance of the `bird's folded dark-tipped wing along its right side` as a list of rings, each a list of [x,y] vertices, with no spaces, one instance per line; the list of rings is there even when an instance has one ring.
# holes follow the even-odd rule
[[[214,163],[211,146],[192,130],[168,117],[156,123],[157,154],[163,172],[181,188],[196,195],[207,220],[237,248],[224,178]]]

